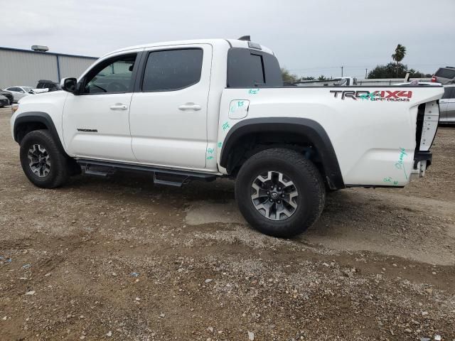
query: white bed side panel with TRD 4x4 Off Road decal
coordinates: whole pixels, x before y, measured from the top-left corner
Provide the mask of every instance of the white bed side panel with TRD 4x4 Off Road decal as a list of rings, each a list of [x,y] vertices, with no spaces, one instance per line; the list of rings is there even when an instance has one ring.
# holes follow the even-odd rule
[[[330,90],[334,89],[374,92],[378,87],[286,87],[262,88],[259,91],[225,89],[221,99],[218,141],[223,144],[228,131],[244,119],[312,119],[321,124],[328,134],[345,184],[402,186],[409,183],[414,163],[417,107],[421,103],[439,99],[442,88],[408,88],[407,90],[413,92],[410,102],[341,99],[340,96],[335,98],[333,93],[330,93]],[[387,87],[387,90],[396,91],[402,88]],[[229,118],[233,99],[250,101],[247,117]],[[405,150],[403,164],[395,166],[400,161],[402,148]],[[226,172],[223,168],[220,168],[220,171]]]

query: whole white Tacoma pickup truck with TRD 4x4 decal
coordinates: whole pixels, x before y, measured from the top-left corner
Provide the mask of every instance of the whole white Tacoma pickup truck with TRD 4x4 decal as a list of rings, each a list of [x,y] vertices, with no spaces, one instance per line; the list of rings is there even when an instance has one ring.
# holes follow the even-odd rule
[[[236,179],[240,211],[291,237],[321,214],[326,190],[401,188],[432,161],[442,87],[284,87],[269,48],[186,40],[108,53],[63,91],[13,107],[27,178],[151,172],[156,183]]]

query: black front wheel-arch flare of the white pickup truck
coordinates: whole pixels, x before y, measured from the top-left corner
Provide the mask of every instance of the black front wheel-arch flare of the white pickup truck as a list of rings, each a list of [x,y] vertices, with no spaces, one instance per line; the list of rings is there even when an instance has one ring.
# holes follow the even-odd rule
[[[55,124],[50,115],[46,112],[22,112],[21,114],[18,114],[14,120],[14,141],[21,144],[23,136],[26,136],[30,131],[38,129],[47,129],[60,151],[66,155],[60,137],[58,136],[57,129],[55,128]]]

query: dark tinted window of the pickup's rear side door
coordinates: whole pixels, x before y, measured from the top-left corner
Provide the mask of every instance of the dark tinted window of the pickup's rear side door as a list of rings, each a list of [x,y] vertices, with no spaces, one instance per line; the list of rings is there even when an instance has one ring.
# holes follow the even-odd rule
[[[173,91],[191,87],[200,80],[203,50],[186,48],[149,53],[142,91]]]

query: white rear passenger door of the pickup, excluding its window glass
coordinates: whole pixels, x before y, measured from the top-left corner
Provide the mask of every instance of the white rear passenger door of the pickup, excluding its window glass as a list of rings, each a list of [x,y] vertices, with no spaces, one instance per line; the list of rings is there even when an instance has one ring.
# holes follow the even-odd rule
[[[203,49],[200,80],[182,90],[133,94],[129,113],[132,149],[140,163],[203,169],[212,46],[185,44],[178,48]],[[162,49],[154,47],[146,51]],[[198,106],[199,109],[182,106]]]

